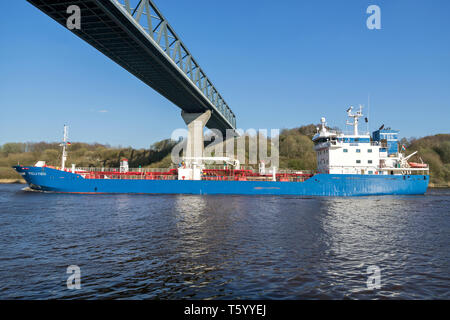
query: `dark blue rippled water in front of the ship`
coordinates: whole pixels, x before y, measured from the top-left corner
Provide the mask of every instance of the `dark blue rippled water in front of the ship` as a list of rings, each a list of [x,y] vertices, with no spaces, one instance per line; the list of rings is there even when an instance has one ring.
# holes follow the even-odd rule
[[[450,190],[65,195],[0,185],[0,298],[449,299]],[[66,268],[81,268],[81,289]],[[381,288],[366,285],[368,266]]]

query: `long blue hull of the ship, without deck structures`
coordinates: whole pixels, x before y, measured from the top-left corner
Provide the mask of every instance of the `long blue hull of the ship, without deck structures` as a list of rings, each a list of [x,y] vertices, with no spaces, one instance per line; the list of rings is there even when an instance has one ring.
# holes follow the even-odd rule
[[[304,182],[84,179],[47,167],[14,169],[32,189],[67,193],[365,196],[424,194],[428,175],[317,174]]]

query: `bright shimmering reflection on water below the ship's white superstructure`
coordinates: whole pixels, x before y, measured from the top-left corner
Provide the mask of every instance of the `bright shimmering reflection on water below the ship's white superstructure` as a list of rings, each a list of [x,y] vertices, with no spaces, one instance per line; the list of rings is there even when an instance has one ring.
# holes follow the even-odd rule
[[[416,254],[417,243],[411,242],[414,235],[409,232],[417,223],[421,199],[386,196],[320,202],[326,212],[323,230],[330,240],[322,268],[332,284],[327,289],[347,297],[398,297],[396,291],[408,285],[408,261]],[[371,265],[381,268],[382,289],[376,292],[365,283]]]

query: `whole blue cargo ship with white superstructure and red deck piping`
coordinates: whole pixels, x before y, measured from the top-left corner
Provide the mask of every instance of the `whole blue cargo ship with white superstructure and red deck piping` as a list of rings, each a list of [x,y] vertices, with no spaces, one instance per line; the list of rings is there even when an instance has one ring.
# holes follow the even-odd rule
[[[362,108],[347,110],[347,124],[353,132],[331,130],[326,119],[312,138],[317,153],[315,172],[277,170],[260,163],[257,169],[241,168],[231,158],[188,159],[176,168],[132,169],[122,159],[120,168],[66,168],[65,128],[61,167],[38,161],[34,166],[13,168],[35,191],[87,194],[223,194],[291,196],[420,195],[429,184],[429,167],[409,162],[416,152],[405,156],[396,130],[384,125],[372,134],[360,134]],[[366,118],[367,121],[367,118]],[[222,168],[208,168],[208,160],[224,162]]]

